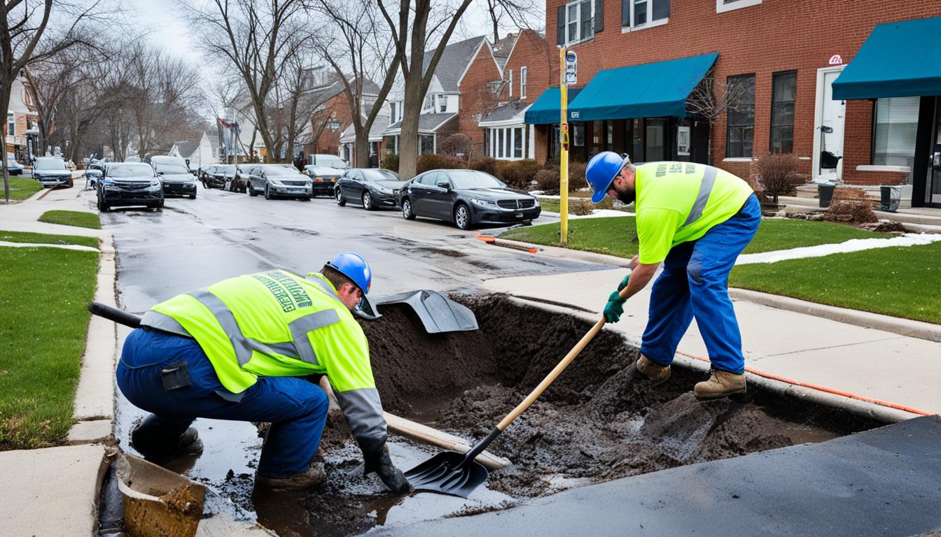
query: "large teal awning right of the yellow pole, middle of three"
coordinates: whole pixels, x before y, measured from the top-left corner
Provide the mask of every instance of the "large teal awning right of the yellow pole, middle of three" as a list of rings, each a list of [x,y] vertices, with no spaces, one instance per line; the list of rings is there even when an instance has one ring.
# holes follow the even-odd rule
[[[685,118],[686,99],[718,53],[598,71],[568,108],[572,121]]]

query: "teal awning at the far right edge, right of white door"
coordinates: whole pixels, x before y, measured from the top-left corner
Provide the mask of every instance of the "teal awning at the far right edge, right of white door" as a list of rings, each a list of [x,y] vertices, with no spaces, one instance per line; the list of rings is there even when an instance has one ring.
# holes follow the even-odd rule
[[[879,24],[833,82],[833,98],[941,95],[941,17]]]

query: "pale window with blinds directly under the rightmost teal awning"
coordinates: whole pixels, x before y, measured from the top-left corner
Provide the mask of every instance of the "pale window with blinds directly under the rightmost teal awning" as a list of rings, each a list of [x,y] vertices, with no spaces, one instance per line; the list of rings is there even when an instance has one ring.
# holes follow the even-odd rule
[[[872,128],[872,164],[909,166],[915,163],[918,97],[876,100]]]

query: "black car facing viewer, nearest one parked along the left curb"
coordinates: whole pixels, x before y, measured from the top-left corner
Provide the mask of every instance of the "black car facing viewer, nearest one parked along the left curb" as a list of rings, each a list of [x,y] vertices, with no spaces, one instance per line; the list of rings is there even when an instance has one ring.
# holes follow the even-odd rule
[[[96,190],[102,213],[118,206],[144,205],[154,210],[164,206],[163,184],[153,168],[143,163],[107,164]]]

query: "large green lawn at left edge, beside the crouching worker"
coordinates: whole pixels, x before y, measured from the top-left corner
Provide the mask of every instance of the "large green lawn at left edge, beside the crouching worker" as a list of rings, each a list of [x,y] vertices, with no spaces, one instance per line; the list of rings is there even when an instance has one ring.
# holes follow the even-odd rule
[[[61,444],[95,292],[98,254],[0,247],[0,450]]]

